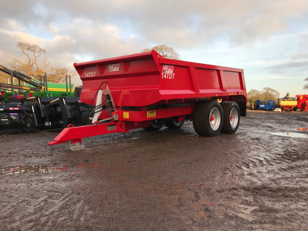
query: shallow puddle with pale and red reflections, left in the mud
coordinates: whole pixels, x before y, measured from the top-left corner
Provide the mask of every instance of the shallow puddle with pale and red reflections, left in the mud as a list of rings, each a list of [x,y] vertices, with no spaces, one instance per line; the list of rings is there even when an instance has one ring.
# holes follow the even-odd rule
[[[81,167],[90,167],[90,168],[99,168],[100,166],[98,164],[83,164],[80,163],[77,165],[77,168]],[[30,165],[30,166],[16,166],[12,168],[2,168],[0,169],[0,176],[3,175],[13,175],[13,174],[19,174],[19,173],[31,173],[31,172],[53,172],[53,171],[65,171],[69,169],[70,167],[68,165],[64,165],[62,168],[55,168],[50,165]],[[89,168],[85,168],[85,170],[88,170]]]

